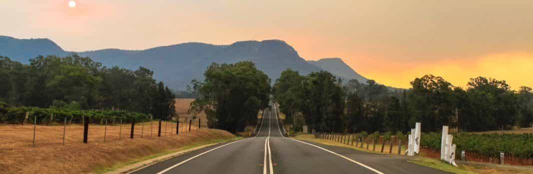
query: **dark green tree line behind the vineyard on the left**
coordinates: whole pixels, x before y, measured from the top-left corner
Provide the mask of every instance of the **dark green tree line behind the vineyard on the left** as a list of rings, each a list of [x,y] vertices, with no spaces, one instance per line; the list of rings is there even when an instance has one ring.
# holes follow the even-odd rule
[[[124,110],[167,119],[174,94],[154,72],[104,67],[76,54],[37,56],[29,64],[0,56],[0,103],[68,110]]]

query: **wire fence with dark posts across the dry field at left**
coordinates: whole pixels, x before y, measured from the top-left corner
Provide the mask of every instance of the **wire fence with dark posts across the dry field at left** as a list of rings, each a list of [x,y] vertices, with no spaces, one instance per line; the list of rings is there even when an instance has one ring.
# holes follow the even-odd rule
[[[32,147],[41,147],[78,143],[111,143],[137,138],[171,137],[188,134],[188,132],[207,127],[207,121],[199,118],[141,122],[120,119],[103,119],[102,121],[86,119],[88,119],[87,124],[85,124],[85,119],[80,121],[80,123],[70,123],[68,118],[63,118],[61,122],[42,125],[37,124],[36,121],[28,122],[31,124],[27,123],[25,125],[4,125],[2,126],[2,134],[17,142],[26,142]],[[6,141],[5,143],[9,143],[9,139],[6,139]]]

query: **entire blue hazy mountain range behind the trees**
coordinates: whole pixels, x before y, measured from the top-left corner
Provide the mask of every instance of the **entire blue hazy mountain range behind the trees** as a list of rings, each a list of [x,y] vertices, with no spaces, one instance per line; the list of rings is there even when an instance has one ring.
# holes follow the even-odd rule
[[[268,74],[272,81],[287,68],[308,74],[320,70],[329,71],[343,81],[366,78],[353,71],[341,59],[305,61],[295,49],[282,40],[255,40],[236,42],[231,45],[204,43],[183,43],[154,47],[139,51],[123,49],[100,49],[87,52],[68,52],[50,39],[17,39],[0,36],[0,55],[22,63],[38,55],[65,56],[77,53],[91,57],[111,67],[117,65],[127,69],[140,66],[155,73],[155,78],[164,81],[174,89],[185,89],[193,79],[203,79],[203,73],[211,63],[235,63],[252,61],[257,68]]]

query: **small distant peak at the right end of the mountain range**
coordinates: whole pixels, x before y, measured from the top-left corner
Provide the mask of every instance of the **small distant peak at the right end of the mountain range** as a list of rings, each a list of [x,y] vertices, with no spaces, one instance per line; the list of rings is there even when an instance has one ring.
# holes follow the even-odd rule
[[[337,77],[343,79],[344,82],[356,79],[360,82],[366,83],[367,78],[361,76],[359,73],[354,71],[350,66],[342,61],[340,58],[324,58],[318,61],[307,61],[311,64],[316,65],[317,67],[324,69],[330,73],[335,74]]]

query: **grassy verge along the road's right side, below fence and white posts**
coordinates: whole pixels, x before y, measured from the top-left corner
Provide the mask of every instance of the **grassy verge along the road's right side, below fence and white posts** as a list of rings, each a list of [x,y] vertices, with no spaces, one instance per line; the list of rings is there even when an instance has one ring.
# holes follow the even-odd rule
[[[389,154],[388,153],[389,151],[387,148],[388,146],[385,146],[384,153],[381,153],[381,152],[372,151],[372,144],[370,144],[370,150],[366,150],[366,148],[358,148],[358,147],[338,143],[332,140],[317,139],[317,138],[314,138],[313,135],[309,135],[309,134],[295,135],[295,137],[293,138],[300,139],[300,140],[307,140],[309,142],[320,143],[320,144],[325,144],[325,145],[352,148],[353,150],[364,151],[368,153]],[[366,147],[366,145],[363,147]],[[381,144],[376,144],[376,150],[381,150]],[[406,148],[402,147],[402,152],[405,150]],[[395,154],[394,152],[398,152],[398,148],[396,148],[395,150],[393,148],[393,154]],[[438,159],[426,158],[424,156],[420,156],[415,159],[410,159],[408,160],[408,162],[415,163],[418,165],[423,165],[423,166],[434,168],[434,169],[443,170],[443,171],[449,171],[452,173],[458,173],[458,174],[473,174],[473,173],[533,174],[533,167],[522,167],[522,166],[514,166],[514,165],[497,165],[497,164],[489,164],[489,163],[470,163],[470,162],[463,163],[463,162],[458,161],[458,164],[457,164],[458,168],[456,168],[453,165],[447,164]]]

